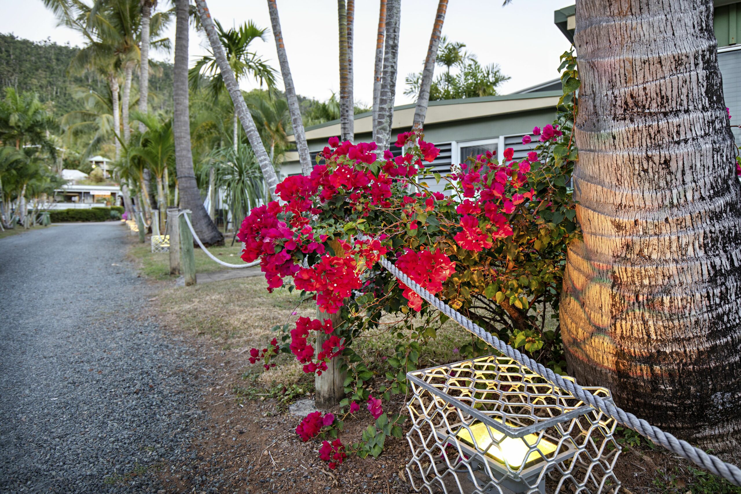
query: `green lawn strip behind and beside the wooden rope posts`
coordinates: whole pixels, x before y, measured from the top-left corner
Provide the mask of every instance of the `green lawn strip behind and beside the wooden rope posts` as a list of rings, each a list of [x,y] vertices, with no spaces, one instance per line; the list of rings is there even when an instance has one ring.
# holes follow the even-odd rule
[[[227,241],[224,247],[208,247],[208,250],[224,262],[228,262],[229,264],[241,264],[243,261],[239,258],[239,255],[242,253],[242,244],[235,242],[234,247],[230,247],[230,243],[231,240]],[[198,247],[195,248],[195,254],[196,273],[209,273],[211,271],[228,269],[206,256],[206,253]],[[158,280],[176,278],[176,276],[170,276],[170,254],[152,253],[149,236],[147,236],[146,243],[134,244],[129,250],[129,256],[130,258],[133,258],[134,261],[139,262],[144,276]]]

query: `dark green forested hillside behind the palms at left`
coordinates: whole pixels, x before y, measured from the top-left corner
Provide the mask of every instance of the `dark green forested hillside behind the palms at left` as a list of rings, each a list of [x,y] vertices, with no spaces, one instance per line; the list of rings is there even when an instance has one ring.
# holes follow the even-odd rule
[[[19,91],[38,93],[41,102],[51,101],[53,116],[79,109],[73,98],[75,87],[90,87],[107,93],[107,84],[93,74],[78,76],[67,74],[70,60],[77,53],[76,47],[56,44],[51,41],[29,41],[12,34],[0,34],[0,87],[15,87]],[[160,63],[150,79],[150,97],[153,109],[172,107],[172,65]],[[136,92],[138,81],[133,83]]]

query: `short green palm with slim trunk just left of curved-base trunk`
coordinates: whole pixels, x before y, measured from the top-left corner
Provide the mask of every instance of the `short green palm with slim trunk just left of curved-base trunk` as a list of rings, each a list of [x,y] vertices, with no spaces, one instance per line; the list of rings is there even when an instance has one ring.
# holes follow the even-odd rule
[[[139,136],[139,142],[130,146],[129,158],[141,158],[147,168],[154,173],[157,180],[157,208],[159,209],[159,225],[165,228],[167,218],[167,192],[165,191],[165,177],[167,168],[175,162],[175,136],[173,134],[173,121],[162,121],[159,117],[134,113],[134,118],[144,124],[147,130]],[[170,185],[167,184],[169,189]],[[163,233],[162,230],[160,233]]]

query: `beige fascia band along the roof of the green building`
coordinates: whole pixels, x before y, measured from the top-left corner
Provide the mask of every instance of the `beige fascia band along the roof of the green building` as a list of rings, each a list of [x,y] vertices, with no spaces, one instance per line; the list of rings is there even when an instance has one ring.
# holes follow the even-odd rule
[[[561,96],[562,91],[542,91],[539,93],[430,101],[425,117],[425,125],[555,107]],[[403,104],[393,107],[391,127],[394,129],[411,128],[415,107],[416,104]],[[354,127],[356,134],[371,133],[373,131],[373,112],[357,114]],[[306,138],[311,140],[339,136],[339,130],[339,119],[332,120],[324,124],[306,127]],[[293,134],[289,134],[288,140],[295,140]]]

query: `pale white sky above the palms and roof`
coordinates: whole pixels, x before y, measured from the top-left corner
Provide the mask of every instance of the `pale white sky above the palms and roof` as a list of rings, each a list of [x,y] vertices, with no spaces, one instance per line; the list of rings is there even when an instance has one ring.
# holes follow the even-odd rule
[[[571,0],[514,0],[502,7],[502,0],[450,0],[442,33],[451,41],[465,43],[482,64],[496,63],[511,80],[502,84],[507,94],[558,75],[559,55],[570,46],[554,25],[554,10],[573,4]],[[170,2],[159,1],[159,9]],[[50,38],[82,45],[82,39],[66,27],[57,27],[54,16],[41,0],[0,0],[0,33],[13,33],[33,41]],[[252,19],[259,27],[270,27],[265,0],[208,0],[215,19],[225,27]],[[339,90],[337,3],[334,0],[279,0],[279,13],[288,62],[296,91],[302,96],[328,99]],[[399,75],[396,104],[413,102],[404,96],[404,79],[419,72],[425,61],[436,0],[402,0],[399,40]],[[373,61],[376,53],[378,0],[356,0],[354,24],[354,96],[369,105],[373,94]],[[174,22],[169,36],[174,40]],[[273,37],[254,41],[254,49],[279,71]],[[191,31],[190,58],[205,53],[205,36]],[[173,53],[155,53],[156,59],[172,61]],[[436,73],[443,70],[436,68]],[[245,81],[242,88],[257,87]],[[280,83],[282,86],[282,82]]]

